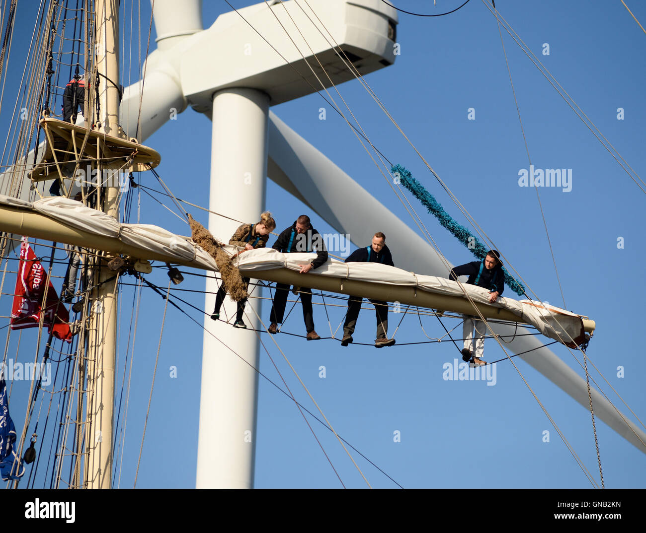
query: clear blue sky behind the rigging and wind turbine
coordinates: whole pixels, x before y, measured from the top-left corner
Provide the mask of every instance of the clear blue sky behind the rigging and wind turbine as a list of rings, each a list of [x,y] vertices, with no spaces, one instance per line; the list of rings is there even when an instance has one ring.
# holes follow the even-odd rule
[[[250,4],[245,1],[232,3],[236,7]],[[396,5],[415,12],[443,12],[459,3],[438,0],[436,8],[426,1],[398,2]],[[643,24],[646,8],[636,2],[630,4]],[[643,150],[646,35],[624,6],[618,1],[580,0],[567,3],[500,0],[496,5],[574,101],[643,177],[646,167]],[[144,27],[149,20],[149,8],[143,3]],[[19,6],[17,24],[23,32],[14,39],[25,39],[31,34],[33,25],[34,15],[20,12],[20,9]],[[204,26],[210,26],[218,14],[228,9],[224,2],[204,3]],[[262,28],[258,30],[262,33]],[[143,52],[146,37],[147,32],[142,37]],[[638,332],[642,328],[640,299],[645,292],[645,282],[640,275],[646,259],[644,193],[504,30],[503,39],[532,163],[535,168],[572,169],[570,192],[548,187],[539,191],[565,305],[536,192],[518,185],[519,171],[528,168],[528,159],[497,24],[482,1],[473,0],[445,17],[429,19],[400,14],[397,40],[401,44],[401,55],[394,66],[368,75],[366,81],[540,299],[596,320],[597,330],[588,355],[643,420],[646,416],[641,387],[643,341],[639,340]],[[544,43],[549,45],[549,55],[542,54]],[[28,43],[21,41],[21,44],[26,48]],[[21,65],[12,63],[9,67],[17,72]],[[217,61],[206,68],[218,68]],[[19,79],[19,75],[16,76]],[[15,79],[9,81],[17,83]],[[129,83],[127,77],[124,76],[122,83]],[[345,83],[339,90],[373,144],[391,161],[411,170],[457,221],[466,224],[439,183],[359,83]],[[0,116],[3,129],[8,128],[6,108],[13,103],[11,100],[5,94]],[[327,108],[325,121],[318,118],[321,106]],[[468,119],[469,108],[475,109],[475,120]],[[624,110],[622,120],[618,120],[618,108]],[[272,110],[405,223],[415,227],[349,126],[320,96],[313,94]],[[168,123],[150,137],[146,144],[161,153],[162,162],[157,170],[174,194],[206,206],[210,121],[189,108],[177,121]],[[142,175],[141,180],[158,188],[152,176]],[[415,201],[410,200],[415,205]],[[335,231],[271,181],[267,184],[266,207],[278,222],[277,230],[291,225],[298,214],[309,212],[313,225],[320,232]],[[415,208],[449,261],[461,264],[473,259],[466,248],[425,214],[421,205],[415,205]],[[199,210],[193,210],[191,214],[206,221]],[[136,221],[136,210],[132,211],[130,221]],[[178,234],[189,231],[179,219],[145,195],[141,196],[141,222],[160,225]],[[380,229],[388,235],[388,228]],[[229,238],[226,235],[218,237]],[[620,237],[623,237],[623,248],[618,248]],[[269,240],[269,245],[274,239]],[[406,268],[405,257],[393,259],[395,265]],[[185,277],[178,288],[196,292],[178,295],[203,308],[203,295],[200,294],[203,277]],[[147,279],[163,287],[167,285],[164,268],[154,270]],[[14,281],[12,278],[6,283],[12,286]],[[125,282],[132,283],[128,279]],[[511,291],[506,290],[505,296],[510,296]],[[132,287],[123,287],[121,296],[123,315],[117,398],[121,394],[130,328]],[[5,299],[3,307],[8,308],[10,298],[5,296]],[[315,298],[315,301],[320,299]],[[289,317],[284,330],[300,334],[302,323],[298,307],[300,305]],[[200,312],[185,309],[202,323]],[[134,483],[162,312],[161,298],[145,290],[136,335],[121,487],[132,487]],[[333,330],[342,321],[343,313],[343,308],[329,310]],[[266,318],[268,314],[269,306],[264,305],[262,316]],[[361,312],[355,334],[357,341],[369,343],[373,339],[373,316],[371,309]],[[390,315],[391,333],[399,319],[401,315]],[[322,306],[315,306],[315,321],[318,332],[329,336]],[[424,317],[422,321],[430,337],[444,333],[435,318]],[[451,320],[444,323],[450,328],[458,325]],[[460,330],[458,326],[457,337]],[[26,348],[26,337],[30,334],[35,336],[35,332],[23,333],[25,341],[21,350],[33,357],[33,350],[28,352]],[[14,354],[16,337],[12,335]],[[263,337],[264,341],[266,337]],[[426,340],[414,315],[404,317],[396,338],[398,343]],[[460,357],[450,342],[375,350],[359,345],[341,348],[332,340],[306,345],[304,339],[287,335],[276,336],[276,341],[339,435],[402,487],[590,487],[543,410],[509,363],[497,365],[495,385],[488,386],[486,381],[443,379],[443,365]],[[309,410],[315,410],[273,343],[267,344],[267,348],[297,399]],[[557,345],[552,349],[570,367],[576,365],[567,348]],[[488,360],[504,357],[494,341],[486,343],[485,355]],[[223,351],[219,356],[230,354]],[[194,487],[201,363],[202,328],[169,308],[137,487]],[[600,484],[590,413],[526,363],[517,361],[517,365]],[[324,378],[319,377],[322,366],[326,368]],[[170,376],[171,367],[176,367],[177,377]],[[618,367],[623,367],[623,377],[618,377]],[[280,377],[262,348],[260,371],[280,383]],[[596,371],[593,372],[592,376],[603,382]],[[629,414],[607,385],[604,384],[603,390],[623,414]],[[19,431],[25,414],[23,400],[26,394],[28,382],[16,382],[10,408]],[[42,411],[45,410],[47,404],[42,407]],[[123,419],[122,407],[120,423]],[[41,414],[41,427],[43,423],[44,414]],[[366,487],[333,435],[317,421],[310,420],[310,423],[344,485]],[[550,432],[549,442],[544,442],[546,430]],[[43,456],[47,454],[52,438],[51,429],[48,431]],[[399,432],[399,442],[393,438],[395,432]],[[646,487],[644,454],[599,419],[596,419],[596,432],[605,486]],[[118,455],[121,456],[121,449]],[[358,454],[353,452],[353,458],[372,487],[397,487]],[[43,476],[44,470],[43,465],[39,466],[39,476]],[[36,483],[36,487],[43,483]],[[48,481],[46,486],[49,486]],[[298,409],[264,377],[260,377],[258,392],[255,486],[341,487]]]

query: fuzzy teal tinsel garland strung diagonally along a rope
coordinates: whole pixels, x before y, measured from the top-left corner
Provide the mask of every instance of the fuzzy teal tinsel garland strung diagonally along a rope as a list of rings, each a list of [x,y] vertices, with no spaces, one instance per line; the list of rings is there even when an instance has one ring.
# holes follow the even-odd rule
[[[424,206],[428,209],[428,212],[432,214],[435,218],[439,220],[439,223],[443,225],[447,230],[449,230],[457,239],[463,243],[464,246],[469,248],[475,257],[478,259],[485,259],[486,252],[488,248],[485,248],[483,243],[480,242],[478,237],[475,237],[471,232],[462,225],[459,225],[451,216],[444,211],[444,208],[437,203],[437,200],[433,197],[424,186],[415,179],[406,168],[401,165],[393,165],[390,168],[390,172],[393,173],[393,176],[399,176],[399,181],[401,185],[406,187],[413,195],[421,201]],[[516,292],[519,296],[525,294],[525,287],[521,285],[514,277],[510,276],[509,272],[503,267],[505,271],[505,283],[507,286]]]

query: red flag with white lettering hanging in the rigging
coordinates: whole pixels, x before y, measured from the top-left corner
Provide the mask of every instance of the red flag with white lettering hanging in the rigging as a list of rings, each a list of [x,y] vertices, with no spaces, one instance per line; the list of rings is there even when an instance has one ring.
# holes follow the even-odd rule
[[[20,245],[14,307],[11,312],[11,328],[16,330],[38,327],[42,311],[45,313],[43,325],[47,326],[48,332],[51,333],[53,329],[54,337],[72,342],[72,332],[67,324],[70,316],[65,306],[58,301],[58,295],[51,281],[47,291],[47,302],[43,308],[45,279],[47,279],[47,273],[43,265],[36,259],[36,254],[30,248],[26,237],[23,237]]]

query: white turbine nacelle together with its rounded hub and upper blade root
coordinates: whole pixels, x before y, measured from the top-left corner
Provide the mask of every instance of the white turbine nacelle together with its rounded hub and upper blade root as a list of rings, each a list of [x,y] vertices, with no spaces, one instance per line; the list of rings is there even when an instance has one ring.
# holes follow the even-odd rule
[[[143,99],[141,81],[123,94],[121,126],[140,141],[189,105],[211,117],[213,95],[225,88],[260,90],[276,105],[352,79],[345,63],[364,75],[395,62],[397,12],[376,0],[260,3],[220,15],[207,30],[195,29],[201,21],[189,4],[188,13],[183,4],[156,6],[163,35],[145,67]]]

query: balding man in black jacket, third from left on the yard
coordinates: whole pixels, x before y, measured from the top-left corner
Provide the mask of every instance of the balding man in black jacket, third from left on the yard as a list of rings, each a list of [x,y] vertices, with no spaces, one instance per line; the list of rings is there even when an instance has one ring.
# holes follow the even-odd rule
[[[394,267],[393,256],[388,246],[386,246],[386,236],[382,232],[375,233],[370,246],[359,248],[346,258],[346,263],[354,262],[381,263],[382,265]],[[346,313],[346,321],[343,325],[341,346],[348,346],[352,342],[352,334],[355,332],[362,301],[363,298],[359,296],[350,296],[348,298],[348,312]],[[388,302],[373,299],[370,302],[375,306],[375,315],[377,316],[377,339],[375,339],[375,347],[383,348],[384,346],[392,346],[395,344],[395,339],[388,338]]]

